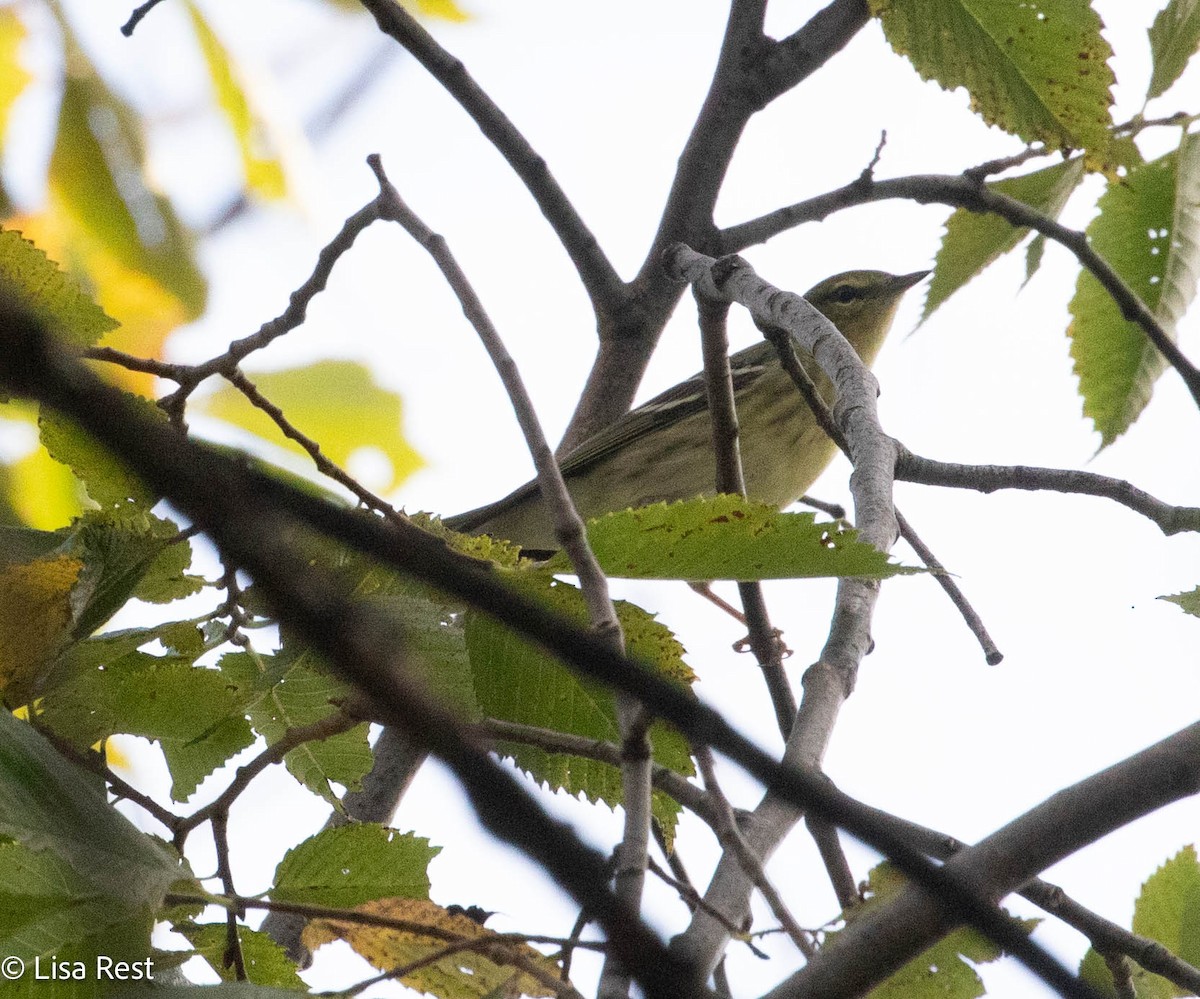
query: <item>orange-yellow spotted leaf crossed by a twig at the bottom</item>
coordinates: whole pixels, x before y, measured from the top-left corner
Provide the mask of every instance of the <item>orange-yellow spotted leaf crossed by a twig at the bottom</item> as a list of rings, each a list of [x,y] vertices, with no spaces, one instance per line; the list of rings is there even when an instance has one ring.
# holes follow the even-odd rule
[[[304,932],[304,944],[316,950],[342,939],[380,971],[392,971],[444,950],[455,941],[462,950],[400,976],[418,992],[442,999],[480,999],[498,995],[553,995],[536,977],[511,965],[514,956],[534,962],[557,977],[558,965],[528,944],[514,943],[464,915],[450,913],[422,898],[383,898],[366,902],[355,911],[388,920],[402,920],[412,929],[318,920]],[[421,933],[420,928],[428,933]],[[472,949],[473,947],[473,949]],[[485,956],[486,955],[486,956]]]

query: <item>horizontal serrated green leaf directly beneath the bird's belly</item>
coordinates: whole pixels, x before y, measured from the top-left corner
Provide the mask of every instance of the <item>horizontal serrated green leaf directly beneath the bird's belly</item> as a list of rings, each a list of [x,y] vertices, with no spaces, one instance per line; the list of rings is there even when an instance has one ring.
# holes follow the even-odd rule
[[[894,564],[854,531],[817,524],[737,496],[655,503],[588,521],[588,542],[610,576],[762,580],[814,576],[887,579],[919,572]],[[565,555],[550,568],[571,572]]]

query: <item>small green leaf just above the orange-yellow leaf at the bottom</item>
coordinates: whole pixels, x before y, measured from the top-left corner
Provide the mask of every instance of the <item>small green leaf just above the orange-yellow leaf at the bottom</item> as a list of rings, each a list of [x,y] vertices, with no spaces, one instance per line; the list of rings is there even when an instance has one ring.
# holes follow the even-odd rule
[[[284,854],[271,899],[349,909],[376,898],[428,898],[440,847],[372,822],[325,828]]]

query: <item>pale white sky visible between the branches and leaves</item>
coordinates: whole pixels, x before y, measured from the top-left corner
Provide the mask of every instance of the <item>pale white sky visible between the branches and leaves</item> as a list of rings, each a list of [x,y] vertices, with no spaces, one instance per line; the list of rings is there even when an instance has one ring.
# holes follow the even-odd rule
[[[90,0],[72,6],[88,7],[92,26],[115,35],[130,5]],[[241,19],[252,16],[245,5],[235,14],[205,6],[230,30],[246,26]],[[340,70],[377,44],[370,19],[331,22],[316,6],[296,13],[302,6],[263,4],[248,25],[252,37],[241,36],[246,53],[262,58],[264,78],[272,62],[264,48],[290,54],[290,64],[271,82],[284,114],[296,113],[295,101],[308,106]],[[774,4],[773,30],[793,30],[818,6]],[[1097,6],[1120,47],[1115,116],[1123,120],[1140,108],[1145,92],[1145,26],[1152,11],[1144,8],[1157,5],[1109,0]],[[725,5],[475,0],[472,10],[473,23],[432,30],[547,158],[620,273],[631,275],[707,86]],[[173,101],[178,107],[190,92],[188,62],[164,41],[178,38],[179,26],[178,12],[163,5],[132,41],[116,36],[106,47],[131,85],[150,88],[164,108]],[[953,173],[1019,149],[1015,139],[972,118],[966,104],[961,92],[922,83],[871,24],[829,66],[755,121],[718,221],[742,221],[847,183],[869,162],[884,127],[880,177]],[[1180,108],[1200,108],[1195,72],[1150,110]],[[198,154],[220,152],[211,148],[216,138],[215,130],[184,121],[156,146],[164,180],[185,177],[175,184],[197,209],[211,198],[206,185],[215,173],[196,169],[206,162]],[[594,351],[586,299],[499,156],[425,72],[402,59],[307,163],[301,211],[270,210],[204,247],[212,311],[172,342],[173,357],[208,357],[283,307],[319,246],[372,196],[364,164],[368,152],[383,155],[410,205],[449,239],[521,363],[550,436],[557,437]],[[191,171],[181,174],[188,164]],[[1091,181],[1066,221],[1086,223],[1098,192],[1098,183]],[[947,211],[902,203],[865,207],[745,256],[767,280],[793,291],[847,268],[911,271],[930,265]],[[935,457],[1086,466],[1129,478],[1168,502],[1200,502],[1200,463],[1189,443],[1200,414],[1178,381],[1164,376],[1141,421],[1093,457],[1098,437],[1080,417],[1064,339],[1073,262],[1050,247],[1042,273],[1018,294],[1022,279],[1019,253],[905,339],[920,305],[920,293],[911,295],[876,364],[884,427]],[[685,298],[643,395],[698,367],[691,313]],[[742,317],[736,323],[737,346],[751,342],[749,323]],[[1183,330],[1184,348],[1193,355],[1200,352],[1196,333],[1193,316]],[[407,431],[427,461],[397,493],[407,508],[449,514],[528,478],[530,462],[484,352],[430,261],[398,228],[367,233],[314,303],[308,324],[256,364],[280,367],[323,355],[367,360],[380,382],[403,395]],[[319,437],[319,429],[313,430]],[[846,475],[839,460],[814,492],[846,501]],[[901,484],[898,501],[958,574],[1007,658],[997,668],[984,664],[931,580],[886,584],[876,651],[862,669],[827,759],[830,777],[844,790],[970,841],[1195,719],[1198,622],[1154,598],[1200,582],[1200,539],[1164,539],[1130,512],[1086,497],[979,496]],[[896,552],[911,560],[902,545]],[[619,584],[617,590],[656,610],[677,632],[700,675],[702,698],[727,711],[744,731],[778,743],[757,670],[748,657],[730,652],[740,634],[733,622],[683,585]],[[820,581],[768,586],[775,623],[796,651],[790,675],[797,688],[823,642],[832,594],[833,585]],[[727,770],[725,779],[737,804],[757,801],[757,790],[739,773]],[[253,809],[235,813],[232,827],[246,892],[265,889],[282,849],[323,818],[322,807],[293,792],[286,778],[260,779],[253,797]],[[598,844],[610,844],[619,830],[602,807],[563,796],[553,807]],[[280,820],[283,808],[292,816],[287,821]],[[1195,801],[1177,804],[1046,877],[1128,925],[1141,881],[1192,842],[1198,821]],[[479,842],[455,785],[436,766],[419,776],[397,825],[445,847],[431,871],[436,901],[499,910],[490,923],[498,929],[569,929],[570,905],[512,851]],[[685,819],[679,844],[692,877],[704,884],[718,855],[710,833]],[[865,877],[866,854],[851,847],[851,856],[856,874]],[[804,833],[780,850],[770,871],[803,925],[817,926],[836,914]],[[682,928],[683,907],[665,891],[654,895],[662,929]],[[1021,904],[1014,909],[1028,911]],[[762,917],[760,926],[769,925],[769,916]],[[1057,926],[1039,931],[1038,939],[1070,964],[1082,953],[1081,939]],[[758,994],[798,963],[778,938],[762,946],[770,962],[731,947],[730,977],[738,995]],[[347,961],[323,952],[306,977],[318,987],[344,987]],[[587,958],[581,956],[577,967],[589,967]],[[1008,962],[982,974],[992,994],[1042,994]]]

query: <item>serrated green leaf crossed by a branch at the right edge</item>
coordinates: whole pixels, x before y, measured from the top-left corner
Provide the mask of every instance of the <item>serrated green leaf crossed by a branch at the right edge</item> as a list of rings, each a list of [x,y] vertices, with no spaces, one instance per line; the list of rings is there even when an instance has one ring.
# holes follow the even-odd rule
[[[1110,184],[1087,238],[1175,339],[1200,281],[1200,137],[1186,136],[1176,151]],[[1146,407],[1166,363],[1086,270],[1070,313],[1084,414],[1108,447]]]

